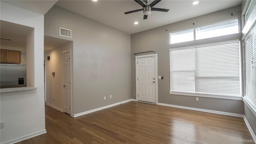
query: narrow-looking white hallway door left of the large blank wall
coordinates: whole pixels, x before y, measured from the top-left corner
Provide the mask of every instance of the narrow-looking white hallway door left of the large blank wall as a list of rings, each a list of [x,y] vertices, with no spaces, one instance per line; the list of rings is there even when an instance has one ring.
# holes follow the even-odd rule
[[[70,114],[71,92],[70,92],[70,52],[64,53],[64,112]]]

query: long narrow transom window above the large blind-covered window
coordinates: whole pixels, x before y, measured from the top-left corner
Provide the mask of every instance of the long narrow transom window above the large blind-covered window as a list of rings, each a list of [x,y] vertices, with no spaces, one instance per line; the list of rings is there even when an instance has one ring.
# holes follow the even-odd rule
[[[239,33],[238,18],[188,30],[170,32],[170,44]]]

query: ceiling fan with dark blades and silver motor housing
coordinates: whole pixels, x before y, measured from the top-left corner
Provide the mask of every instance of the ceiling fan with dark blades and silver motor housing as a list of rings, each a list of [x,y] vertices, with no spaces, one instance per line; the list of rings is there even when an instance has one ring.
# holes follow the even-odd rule
[[[146,2],[146,5],[142,1],[140,1],[140,0],[134,0],[134,1],[137,2],[143,8],[142,9],[138,9],[138,10],[132,10],[130,12],[125,12],[124,14],[130,14],[132,12],[138,12],[138,11],[143,10],[143,13],[144,13],[143,19],[145,20],[145,19],[148,18],[148,15],[151,14],[151,10],[159,11],[159,12],[168,12],[169,11],[169,9],[164,9],[164,8],[152,8],[154,5],[156,5],[161,0],[155,0],[152,3],[150,3],[149,5],[148,5],[148,1],[149,0],[143,0],[144,2]]]

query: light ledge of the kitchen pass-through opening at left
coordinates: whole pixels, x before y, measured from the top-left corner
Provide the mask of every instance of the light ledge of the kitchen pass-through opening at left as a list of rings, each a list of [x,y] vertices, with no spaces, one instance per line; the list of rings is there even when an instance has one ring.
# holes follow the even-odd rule
[[[0,88],[1,96],[35,93],[36,87]]]

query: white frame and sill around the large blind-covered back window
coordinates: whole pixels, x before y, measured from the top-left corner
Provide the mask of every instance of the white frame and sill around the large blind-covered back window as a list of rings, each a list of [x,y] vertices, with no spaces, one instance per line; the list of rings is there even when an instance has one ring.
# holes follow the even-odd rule
[[[229,40],[229,41],[224,41],[224,42],[215,42],[215,43],[209,43],[209,44],[200,44],[200,45],[195,45],[195,46],[186,46],[186,47],[181,47],[181,48],[174,48],[174,49],[185,49],[185,48],[192,48],[192,47],[198,47],[198,46],[206,46],[206,45],[213,45],[213,44],[222,44],[226,42],[237,42],[240,40]],[[174,95],[184,95],[184,96],[196,96],[196,97],[206,97],[206,98],[220,98],[220,99],[228,99],[228,100],[243,100],[243,80],[242,80],[242,42],[240,41],[240,93],[241,96],[223,96],[223,95],[212,95],[212,94],[198,94],[198,93],[186,93],[186,92],[172,92],[170,89],[169,94],[174,94]],[[172,50],[169,49],[169,51]],[[169,55],[170,57],[170,55]],[[170,71],[171,74],[171,71]],[[170,77],[170,88],[171,88],[171,77]]]

